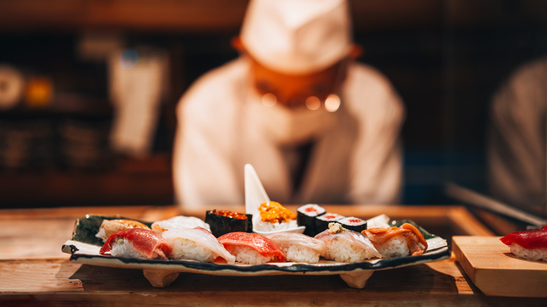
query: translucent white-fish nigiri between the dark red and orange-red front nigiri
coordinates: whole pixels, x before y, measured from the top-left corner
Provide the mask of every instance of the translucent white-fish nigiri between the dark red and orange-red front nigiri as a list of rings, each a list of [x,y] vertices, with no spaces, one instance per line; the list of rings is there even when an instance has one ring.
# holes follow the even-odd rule
[[[161,233],[173,247],[170,259],[191,259],[212,262],[221,257],[228,264],[234,264],[236,257],[230,254],[215,236],[203,227],[171,228]]]

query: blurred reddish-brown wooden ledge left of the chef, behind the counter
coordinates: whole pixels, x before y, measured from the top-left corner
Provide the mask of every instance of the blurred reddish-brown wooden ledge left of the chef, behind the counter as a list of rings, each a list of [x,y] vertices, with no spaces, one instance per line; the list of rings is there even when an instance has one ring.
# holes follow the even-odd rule
[[[0,207],[173,204],[170,158],[121,160],[109,170],[0,172]]]

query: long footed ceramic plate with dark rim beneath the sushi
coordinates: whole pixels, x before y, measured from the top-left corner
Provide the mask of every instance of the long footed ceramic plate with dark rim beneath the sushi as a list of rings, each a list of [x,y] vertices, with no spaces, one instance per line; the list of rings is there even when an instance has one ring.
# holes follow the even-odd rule
[[[295,262],[269,263],[261,265],[217,264],[198,261],[166,261],[112,257],[99,254],[102,241],[95,237],[103,219],[120,219],[121,217],[102,217],[86,215],[76,221],[72,239],[62,245],[62,251],[71,254],[70,261],[97,266],[116,268],[139,268],[154,287],[166,287],[173,282],[179,273],[202,273],[210,275],[257,276],[257,275],[340,275],[351,287],[363,288],[374,271],[424,264],[450,258],[450,249],[446,240],[428,233],[424,228],[410,220],[391,221],[392,226],[410,222],[424,234],[428,249],[418,256],[398,257],[391,259],[371,259],[357,263],[341,263],[320,260],[318,264]],[[150,225],[142,221],[144,224]]]

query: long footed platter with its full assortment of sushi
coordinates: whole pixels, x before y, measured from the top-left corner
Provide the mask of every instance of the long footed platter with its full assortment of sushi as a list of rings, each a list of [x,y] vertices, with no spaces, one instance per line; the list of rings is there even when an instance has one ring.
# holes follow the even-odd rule
[[[154,287],[184,272],[340,275],[360,289],[374,271],[450,258],[446,240],[411,220],[342,217],[317,204],[294,214],[269,199],[251,165],[245,165],[245,210],[208,210],[204,221],[87,215],[76,221],[62,251],[81,264],[142,269]]]

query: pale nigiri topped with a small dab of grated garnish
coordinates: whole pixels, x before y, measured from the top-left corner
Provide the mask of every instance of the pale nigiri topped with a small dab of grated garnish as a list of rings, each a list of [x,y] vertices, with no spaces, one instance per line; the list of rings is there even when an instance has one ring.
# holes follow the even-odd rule
[[[324,257],[337,262],[361,262],[381,257],[367,236],[348,230],[342,225],[331,222],[328,229],[315,236],[327,245]]]

